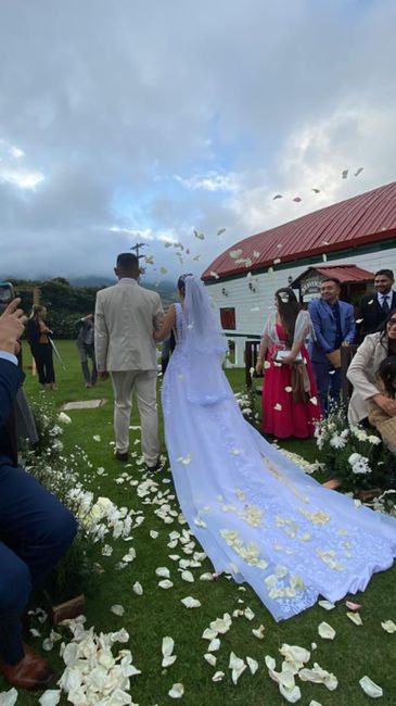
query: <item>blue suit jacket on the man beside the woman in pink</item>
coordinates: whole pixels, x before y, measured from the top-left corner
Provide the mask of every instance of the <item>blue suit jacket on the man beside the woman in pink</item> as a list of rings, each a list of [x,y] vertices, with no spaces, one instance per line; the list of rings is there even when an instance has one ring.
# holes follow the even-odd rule
[[[355,312],[352,304],[338,300],[341,337],[353,343],[356,333]],[[333,310],[323,299],[314,299],[308,304],[316,340],[309,345],[309,355],[315,363],[329,363],[325,354],[335,349],[336,322]]]

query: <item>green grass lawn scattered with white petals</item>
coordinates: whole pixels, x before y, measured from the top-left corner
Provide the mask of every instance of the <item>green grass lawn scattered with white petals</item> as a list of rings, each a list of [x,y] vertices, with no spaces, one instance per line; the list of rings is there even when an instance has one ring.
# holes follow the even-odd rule
[[[328,613],[315,606],[302,615],[288,621],[276,623],[270,614],[258,601],[251,588],[244,584],[245,591],[226,577],[215,581],[200,581],[199,577],[205,571],[210,571],[212,566],[206,559],[202,567],[193,569],[194,583],[181,580],[177,571],[177,562],[169,558],[169,553],[183,556],[180,547],[174,550],[167,546],[168,533],[181,530],[177,518],[171,525],[165,525],[154,515],[155,505],[142,504],[137,496],[136,487],[117,484],[115,479],[127,472],[131,479],[140,480],[142,470],[139,467],[125,468],[113,458],[113,404],[110,381],[91,390],[86,390],[79,368],[77,350],[74,343],[61,341],[59,349],[64,357],[67,371],[58,367],[59,390],[53,392],[39,392],[37,378],[26,371],[25,391],[29,398],[46,394],[53,399],[56,407],[64,402],[84,399],[103,398],[106,404],[98,409],[76,411],[67,413],[73,424],[64,428],[63,441],[65,451],[73,452],[75,444],[88,453],[92,468],[84,469],[85,486],[97,495],[105,495],[117,505],[128,508],[144,510],[143,524],[132,532],[133,541],[112,540],[114,551],[112,556],[103,557],[98,545],[98,557],[104,568],[101,575],[92,575],[88,590],[87,619],[88,625],[95,627],[95,631],[110,632],[125,627],[130,634],[127,645],[133,655],[133,664],[141,670],[141,675],[131,679],[131,694],[133,703],[140,706],[164,706],[173,703],[167,695],[175,682],[182,682],[184,696],[181,703],[189,706],[222,706],[231,703],[240,706],[257,704],[278,706],[285,704],[279,693],[278,686],[268,676],[265,666],[265,656],[271,655],[277,659],[277,668],[281,667],[279,648],[285,642],[301,645],[310,650],[311,643],[317,643],[312,652],[309,666],[314,661],[321,667],[334,672],[338,679],[338,688],[330,692],[321,684],[299,682],[302,699],[298,702],[308,706],[316,699],[322,706],[332,704],[340,706],[358,706],[367,704],[370,698],[363,694],[359,686],[359,679],[368,675],[384,690],[380,699],[381,704],[396,704],[396,634],[386,633],[381,621],[393,619],[396,622],[396,569],[376,575],[365,594],[355,596],[355,601],[362,604],[360,610],[363,626],[357,627],[346,617],[346,607],[341,602],[335,609]],[[25,363],[28,362],[27,351]],[[243,387],[243,371],[231,370],[230,381],[234,391]],[[131,425],[139,424],[136,409]],[[93,440],[94,434],[100,434],[101,442]],[[131,444],[139,440],[139,432],[131,431]],[[163,451],[165,452],[164,442]],[[288,449],[304,455],[309,459],[317,456],[312,442],[290,441],[284,444]],[[132,446],[140,451],[140,444]],[[97,475],[97,468],[104,467],[106,476]],[[162,489],[171,489],[170,483],[165,483],[170,474],[168,470],[156,476],[155,480]],[[171,501],[177,508],[177,501]],[[157,530],[157,539],[151,539],[150,530]],[[115,570],[115,565],[120,557],[133,545],[137,558],[124,570]],[[200,546],[195,547],[197,551]],[[170,569],[173,589],[164,591],[157,588],[155,568],[166,566]],[[139,596],[132,591],[135,581],[140,581],[144,593]],[[180,603],[184,596],[191,595],[201,601],[202,607],[187,609]],[[354,598],[352,598],[354,600]],[[117,617],[110,610],[113,604],[122,604],[125,615]],[[225,612],[232,614],[235,608],[250,607],[255,617],[252,621],[245,617],[232,620],[231,629],[221,636],[221,646],[216,653],[216,667],[209,666],[203,655],[207,642],[202,639],[202,633],[209,622]],[[318,635],[318,625],[325,620],[336,630],[334,641],[324,641]],[[264,625],[265,639],[257,640],[252,634],[252,629]],[[40,639],[33,640],[39,650],[42,639],[49,634],[50,627],[42,629]],[[164,670],[161,666],[162,639],[170,635],[175,640],[176,663]],[[62,672],[62,661],[58,656],[56,646],[49,653],[48,658],[52,666]],[[119,645],[119,648],[124,645]],[[248,669],[242,675],[237,685],[231,682],[231,672],[228,668],[230,653],[239,657],[248,655],[257,659],[259,667],[252,676]],[[212,677],[216,670],[226,672],[221,682],[213,682]],[[5,689],[3,681],[0,688]],[[17,704],[37,704],[38,697],[21,692]],[[61,703],[67,703],[63,697]],[[1,697],[0,697],[1,704]]]

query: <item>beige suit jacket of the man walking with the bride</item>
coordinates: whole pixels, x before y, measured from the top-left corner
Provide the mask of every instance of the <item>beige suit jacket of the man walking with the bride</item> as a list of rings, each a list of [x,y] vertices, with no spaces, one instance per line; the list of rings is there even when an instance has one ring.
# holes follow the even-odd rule
[[[164,310],[157,292],[124,278],[97,294],[94,345],[98,370],[156,370],[153,329]]]

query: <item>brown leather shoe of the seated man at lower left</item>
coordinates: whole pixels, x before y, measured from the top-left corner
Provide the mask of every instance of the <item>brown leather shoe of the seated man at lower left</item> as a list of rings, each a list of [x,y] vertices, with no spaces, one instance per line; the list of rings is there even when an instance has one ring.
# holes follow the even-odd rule
[[[47,661],[24,643],[24,656],[16,665],[8,665],[0,659],[0,671],[7,681],[16,689],[39,691],[47,689],[53,673]]]

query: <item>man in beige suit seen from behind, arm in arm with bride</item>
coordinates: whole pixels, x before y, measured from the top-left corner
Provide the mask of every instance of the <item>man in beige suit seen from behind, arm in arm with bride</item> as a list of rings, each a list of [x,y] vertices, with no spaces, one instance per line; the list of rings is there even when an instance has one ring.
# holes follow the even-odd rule
[[[110,373],[113,381],[115,454],[119,461],[128,461],[129,423],[136,392],[143,457],[148,468],[156,470],[159,441],[153,329],[161,327],[164,311],[159,294],[138,283],[136,255],[118,255],[114,272],[118,283],[97,294],[94,345],[101,377]]]

